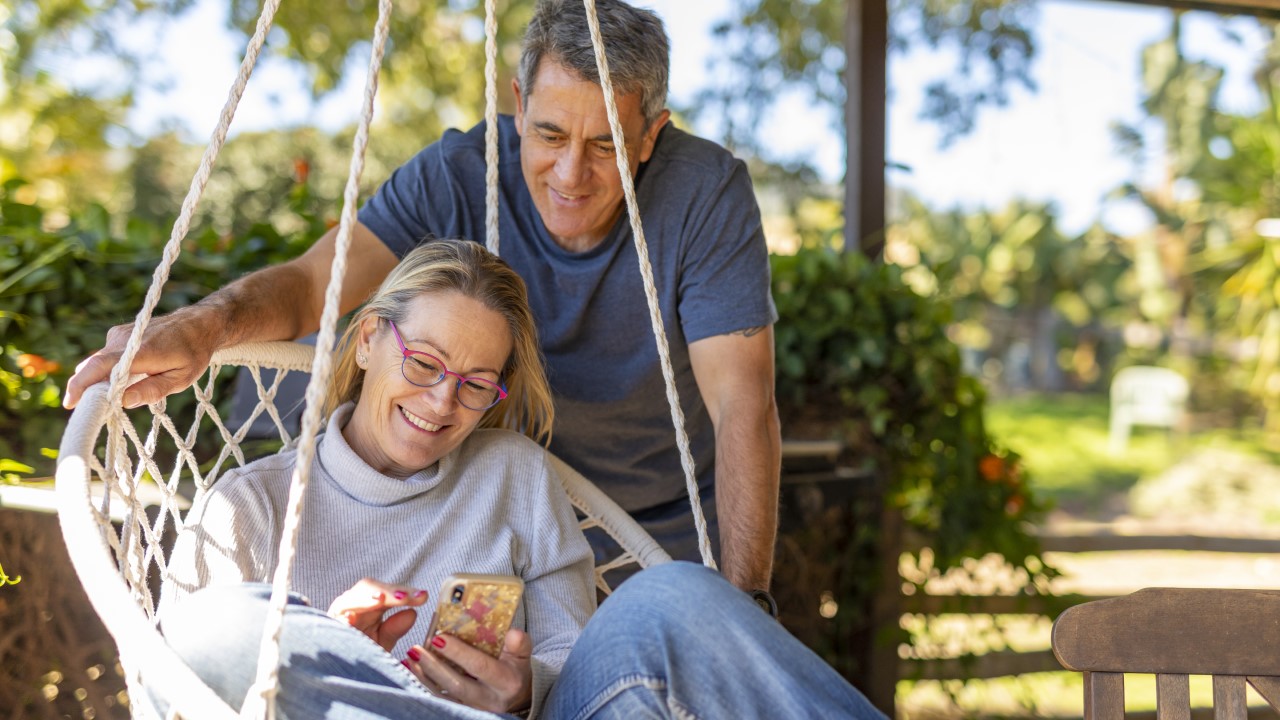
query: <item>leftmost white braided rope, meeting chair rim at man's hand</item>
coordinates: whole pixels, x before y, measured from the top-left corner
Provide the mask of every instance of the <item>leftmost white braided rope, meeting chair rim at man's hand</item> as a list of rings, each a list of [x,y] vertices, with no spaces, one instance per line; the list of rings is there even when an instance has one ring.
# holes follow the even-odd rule
[[[191,178],[191,187],[187,190],[187,197],[182,201],[182,209],[173,224],[169,242],[165,243],[160,264],[156,265],[155,273],[151,275],[151,287],[142,301],[142,309],[138,310],[137,316],[133,319],[133,332],[124,346],[124,352],[120,354],[120,360],[111,369],[111,384],[108,386],[106,391],[108,407],[113,409],[108,414],[106,420],[108,468],[122,468],[122,459],[128,454],[128,447],[124,443],[124,433],[120,430],[122,423],[128,420],[124,413],[119,410],[120,398],[131,384],[142,379],[142,375],[131,375],[129,368],[133,366],[133,359],[138,355],[138,348],[142,347],[142,334],[147,331],[151,314],[160,302],[160,292],[169,281],[169,270],[178,260],[178,255],[182,254],[182,241],[187,237],[187,231],[191,229],[191,220],[196,214],[196,206],[205,192],[205,186],[209,184],[209,176],[214,172],[214,160],[218,159],[223,143],[227,142],[227,132],[230,128],[232,118],[236,117],[236,108],[239,106],[241,97],[244,95],[244,87],[248,85],[248,78],[253,74],[257,56],[262,50],[262,44],[266,42],[266,35],[271,29],[271,22],[275,20],[275,12],[279,6],[280,0],[266,0],[262,5],[262,14],[257,18],[253,37],[250,38],[248,46],[244,49],[244,59],[241,60],[239,73],[237,73],[236,82],[232,83],[232,88],[227,94],[227,102],[218,117],[218,126],[209,138],[205,154],[200,159],[196,176]]]

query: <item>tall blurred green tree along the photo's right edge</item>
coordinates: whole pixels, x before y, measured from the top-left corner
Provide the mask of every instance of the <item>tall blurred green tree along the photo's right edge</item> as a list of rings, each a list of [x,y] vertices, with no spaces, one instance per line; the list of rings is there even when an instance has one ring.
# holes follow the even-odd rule
[[[1139,273],[1142,311],[1169,333],[1184,365],[1225,352],[1248,368],[1229,378],[1261,405],[1271,441],[1280,443],[1280,242],[1263,220],[1280,217],[1280,40],[1272,37],[1256,73],[1263,109],[1252,115],[1219,105],[1222,69],[1187,56],[1183,14],[1143,53],[1142,109],[1162,138],[1164,177],[1155,187],[1126,183],[1156,217],[1149,238],[1158,272]],[[1139,128],[1120,127],[1130,152],[1143,150]],[[1193,342],[1199,338],[1199,342]]]

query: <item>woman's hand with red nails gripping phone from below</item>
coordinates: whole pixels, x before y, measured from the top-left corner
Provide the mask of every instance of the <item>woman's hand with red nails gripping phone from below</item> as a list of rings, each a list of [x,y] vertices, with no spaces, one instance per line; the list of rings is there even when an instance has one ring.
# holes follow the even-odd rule
[[[532,701],[532,652],[524,630],[507,630],[497,659],[454,635],[435,635],[430,650],[415,646],[404,665],[439,696],[476,710],[516,712]]]

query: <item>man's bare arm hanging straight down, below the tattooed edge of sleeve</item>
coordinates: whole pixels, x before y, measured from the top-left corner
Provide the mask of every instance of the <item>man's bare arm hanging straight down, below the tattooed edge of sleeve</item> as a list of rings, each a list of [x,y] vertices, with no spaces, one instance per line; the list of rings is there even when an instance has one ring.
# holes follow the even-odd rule
[[[782,433],[773,396],[773,328],[689,346],[716,427],[721,571],[742,589],[768,589],[778,528]]]

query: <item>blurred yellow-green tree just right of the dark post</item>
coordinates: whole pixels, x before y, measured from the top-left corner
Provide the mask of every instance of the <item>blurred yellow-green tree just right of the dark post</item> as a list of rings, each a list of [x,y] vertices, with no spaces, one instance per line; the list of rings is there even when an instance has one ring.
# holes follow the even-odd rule
[[[1041,391],[1062,389],[1062,369],[1076,386],[1100,379],[1103,328],[1123,322],[1130,304],[1133,263],[1120,238],[1097,225],[1066,236],[1052,206],[1019,200],[963,213],[906,196],[902,214],[886,259],[906,266],[919,292],[955,307],[952,337],[961,346],[1005,361],[1025,341],[1027,382]],[[1061,350],[1070,351],[1069,368]]]

